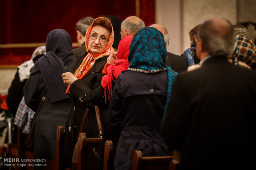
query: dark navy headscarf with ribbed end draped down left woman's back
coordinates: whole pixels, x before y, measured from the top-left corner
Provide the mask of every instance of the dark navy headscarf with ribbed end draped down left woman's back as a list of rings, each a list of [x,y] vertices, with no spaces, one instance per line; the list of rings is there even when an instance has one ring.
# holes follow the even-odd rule
[[[31,75],[40,72],[50,101],[56,102],[69,98],[65,94],[67,85],[63,83],[62,73],[65,66],[74,62],[72,41],[62,29],[52,30],[46,38],[46,54],[35,63]]]

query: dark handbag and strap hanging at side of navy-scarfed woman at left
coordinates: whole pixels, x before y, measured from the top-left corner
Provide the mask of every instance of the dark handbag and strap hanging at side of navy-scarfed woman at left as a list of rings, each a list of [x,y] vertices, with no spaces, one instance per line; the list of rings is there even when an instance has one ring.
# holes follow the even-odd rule
[[[42,97],[42,101],[40,102],[40,105],[38,106],[38,109],[36,110],[36,113],[34,114],[34,117],[33,117],[32,123],[31,123],[31,128],[28,133],[28,138],[26,140],[25,146],[27,149],[29,149],[31,151],[33,151],[33,146],[34,146],[34,131],[35,131],[35,126],[36,126],[36,117],[37,117],[41,107],[43,106],[43,103],[45,102],[46,96],[47,96],[47,94],[45,94]]]

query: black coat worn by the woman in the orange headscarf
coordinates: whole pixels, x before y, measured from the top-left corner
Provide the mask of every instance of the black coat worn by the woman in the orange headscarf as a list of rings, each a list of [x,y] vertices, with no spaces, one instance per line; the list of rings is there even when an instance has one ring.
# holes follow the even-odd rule
[[[72,73],[81,65],[83,58],[87,55],[83,53],[76,58],[76,62],[70,66],[69,69]],[[76,144],[79,135],[80,124],[84,115],[85,108],[89,108],[89,112],[85,121],[83,132],[86,133],[87,138],[99,138],[99,131],[97,127],[97,119],[94,104],[90,101],[91,91],[93,87],[92,80],[94,75],[97,73],[102,73],[104,65],[107,62],[107,57],[102,57],[96,60],[92,68],[88,73],[81,79],[76,80],[72,83],[69,88],[69,93],[73,99],[73,107],[69,113],[69,118],[66,123],[66,133],[65,133],[65,145],[64,145],[64,155],[66,159],[66,167],[71,166],[71,156],[73,153],[73,147]],[[82,98],[81,98],[82,97]],[[102,96],[103,98],[103,96]],[[106,122],[107,108],[99,107],[100,109],[100,119],[102,123],[102,128],[104,127],[104,122]],[[67,133],[71,126],[71,133]]]

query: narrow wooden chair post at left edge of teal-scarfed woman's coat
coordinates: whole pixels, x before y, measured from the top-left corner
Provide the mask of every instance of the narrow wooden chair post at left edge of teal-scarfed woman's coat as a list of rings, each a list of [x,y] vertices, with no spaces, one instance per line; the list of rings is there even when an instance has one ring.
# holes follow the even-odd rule
[[[113,142],[107,140],[104,147],[104,161],[103,161],[103,170],[112,170],[113,169]]]

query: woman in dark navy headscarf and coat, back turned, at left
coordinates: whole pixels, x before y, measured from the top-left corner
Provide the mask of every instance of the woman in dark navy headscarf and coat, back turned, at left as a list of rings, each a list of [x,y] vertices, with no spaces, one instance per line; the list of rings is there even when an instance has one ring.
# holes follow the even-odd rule
[[[55,159],[57,125],[65,126],[71,110],[67,85],[62,74],[66,66],[73,63],[72,41],[62,29],[52,30],[46,38],[46,54],[38,59],[24,86],[26,105],[36,112],[41,98],[46,100],[36,118],[34,159]],[[40,167],[34,167],[40,168]]]

